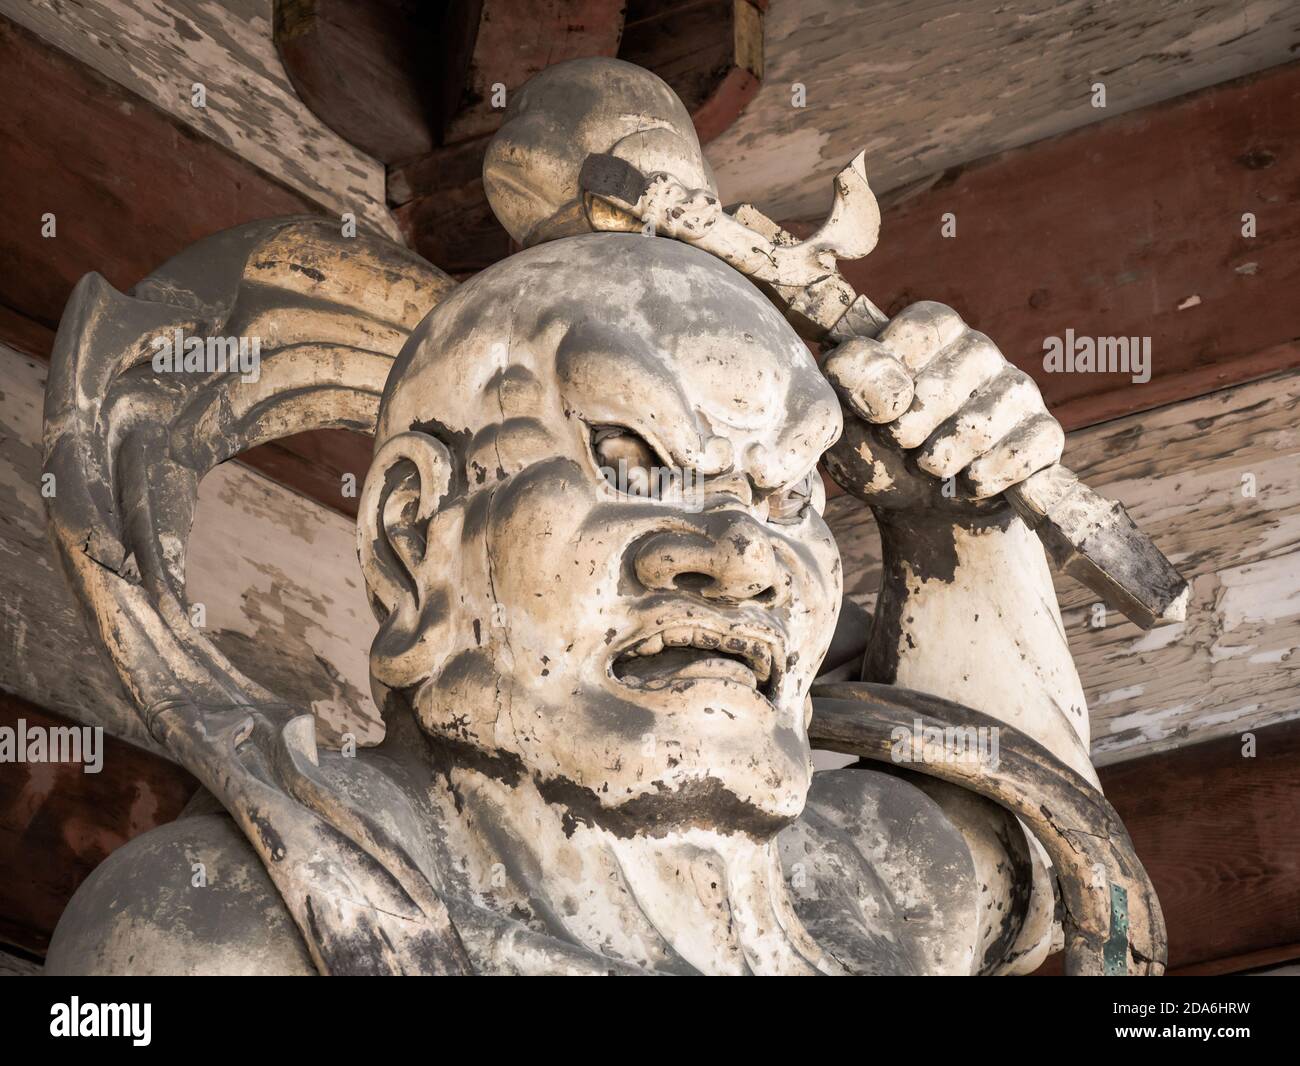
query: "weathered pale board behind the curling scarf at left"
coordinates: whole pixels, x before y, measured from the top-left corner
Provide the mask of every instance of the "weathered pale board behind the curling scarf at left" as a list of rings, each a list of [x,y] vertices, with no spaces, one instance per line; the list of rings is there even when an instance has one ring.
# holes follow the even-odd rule
[[[161,750],[86,630],[46,532],[40,424],[46,367],[0,346],[0,689]],[[234,463],[199,490],[187,593],[217,646],[318,736],[382,734],[369,694],[374,619],[352,523]]]

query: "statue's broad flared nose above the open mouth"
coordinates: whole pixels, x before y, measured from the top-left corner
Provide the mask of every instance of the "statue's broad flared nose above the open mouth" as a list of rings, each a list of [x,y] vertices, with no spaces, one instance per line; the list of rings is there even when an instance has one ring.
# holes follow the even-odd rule
[[[728,603],[784,603],[788,582],[763,525],[736,508],[693,516],[690,532],[654,533],[636,549],[636,573],[655,592]]]

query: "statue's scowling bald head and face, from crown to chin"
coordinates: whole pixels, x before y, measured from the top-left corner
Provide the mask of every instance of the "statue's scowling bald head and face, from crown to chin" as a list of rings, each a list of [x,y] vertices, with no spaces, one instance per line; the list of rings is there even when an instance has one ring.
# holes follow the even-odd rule
[[[411,429],[456,469],[373,662],[428,731],[618,832],[802,810],[840,410],[757,290],[658,238],[514,256],[412,335],[380,442]]]

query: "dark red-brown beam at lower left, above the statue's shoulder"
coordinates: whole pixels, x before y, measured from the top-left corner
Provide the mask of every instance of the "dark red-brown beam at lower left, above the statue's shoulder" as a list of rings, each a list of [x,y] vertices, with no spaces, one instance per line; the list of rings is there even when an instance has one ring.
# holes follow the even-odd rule
[[[0,727],[79,723],[0,690]],[[0,772],[0,942],[43,956],[58,915],[117,848],[176,819],[198,789],[176,763],[105,734],[103,768],[8,763]]]

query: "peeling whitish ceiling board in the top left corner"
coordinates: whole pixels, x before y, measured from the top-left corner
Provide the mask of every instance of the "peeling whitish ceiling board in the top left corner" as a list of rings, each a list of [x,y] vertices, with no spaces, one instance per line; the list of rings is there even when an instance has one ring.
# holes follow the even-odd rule
[[[308,200],[399,234],[384,166],[294,94],[272,40],[273,0],[0,0],[0,13]],[[195,82],[207,107],[191,103]],[[188,240],[182,243],[190,243]]]

